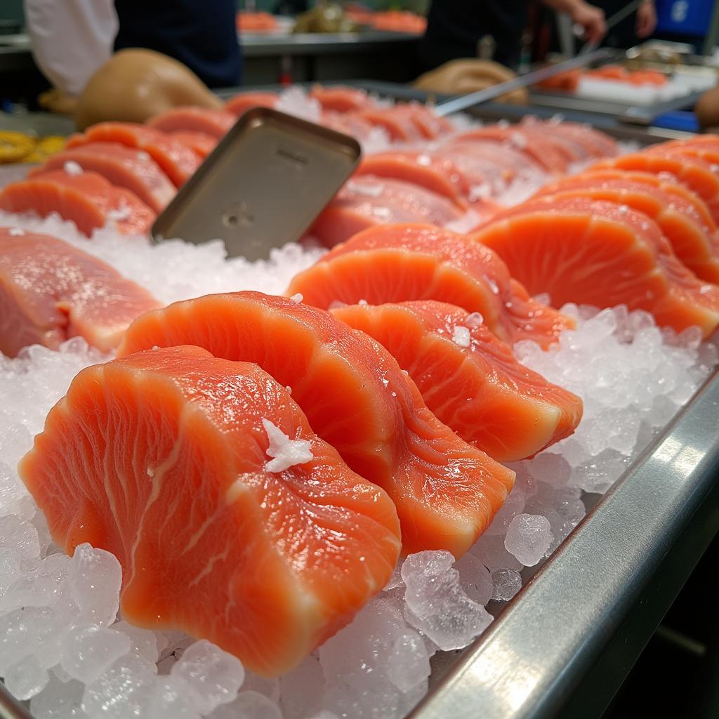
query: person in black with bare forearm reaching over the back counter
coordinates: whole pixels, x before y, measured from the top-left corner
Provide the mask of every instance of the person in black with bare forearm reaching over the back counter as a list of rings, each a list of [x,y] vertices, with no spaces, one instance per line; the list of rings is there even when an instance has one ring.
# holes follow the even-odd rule
[[[587,42],[604,37],[602,9],[585,0],[543,0],[557,12],[564,12],[584,29]],[[516,69],[521,39],[527,24],[527,0],[433,0],[427,15],[427,29],[420,42],[424,70],[431,70],[457,58],[477,57],[477,42],[485,35],[495,40],[493,60]]]

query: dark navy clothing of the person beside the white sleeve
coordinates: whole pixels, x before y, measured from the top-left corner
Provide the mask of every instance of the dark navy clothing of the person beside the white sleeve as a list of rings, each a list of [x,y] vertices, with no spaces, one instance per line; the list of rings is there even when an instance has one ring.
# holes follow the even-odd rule
[[[115,0],[115,50],[147,47],[187,65],[211,88],[239,85],[235,0]]]

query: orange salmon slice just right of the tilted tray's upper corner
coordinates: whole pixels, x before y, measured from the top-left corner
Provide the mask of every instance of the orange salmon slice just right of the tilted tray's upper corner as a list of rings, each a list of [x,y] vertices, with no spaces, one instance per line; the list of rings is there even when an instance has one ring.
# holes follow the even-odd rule
[[[452,160],[422,150],[388,150],[367,155],[354,174],[411,182],[460,205],[462,198],[469,197],[472,191],[472,183]]]

